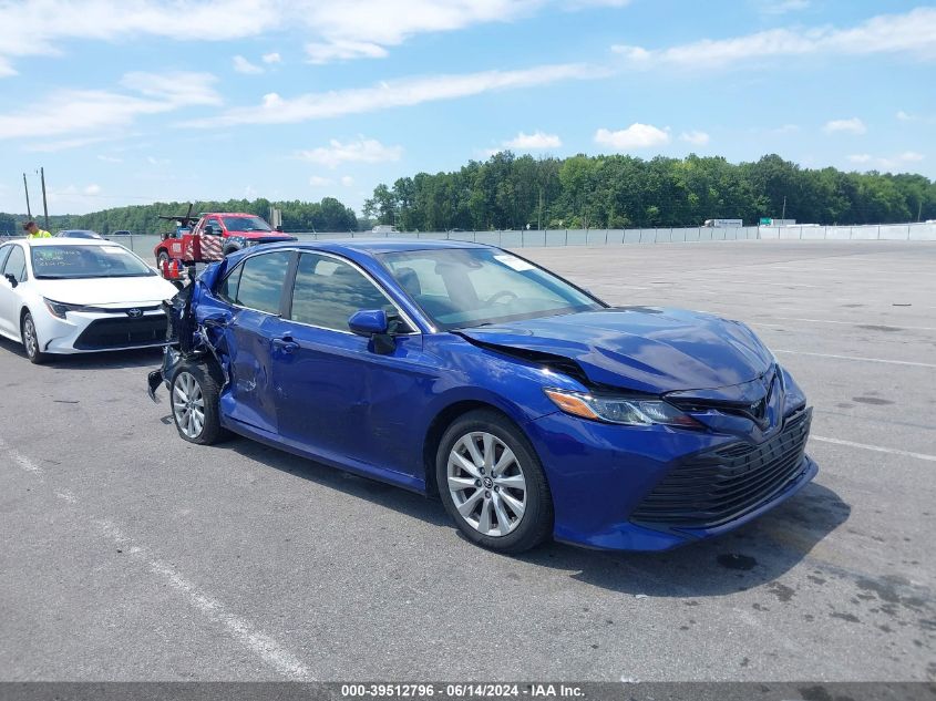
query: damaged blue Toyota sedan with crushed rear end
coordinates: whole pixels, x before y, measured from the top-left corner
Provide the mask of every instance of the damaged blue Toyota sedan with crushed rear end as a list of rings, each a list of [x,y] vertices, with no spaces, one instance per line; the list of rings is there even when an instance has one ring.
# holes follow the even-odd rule
[[[816,474],[803,392],[739,321],[613,308],[500,248],[272,244],[169,306],[179,435],[438,495],[474,543],[662,550]]]

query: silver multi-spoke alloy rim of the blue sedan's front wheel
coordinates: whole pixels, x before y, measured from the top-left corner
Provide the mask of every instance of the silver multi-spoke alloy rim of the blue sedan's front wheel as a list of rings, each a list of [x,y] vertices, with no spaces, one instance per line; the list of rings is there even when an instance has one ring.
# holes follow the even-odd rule
[[[483,431],[463,435],[449,453],[449,493],[461,517],[486,536],[505,536],[526,512],[526,478],[514,452]]]

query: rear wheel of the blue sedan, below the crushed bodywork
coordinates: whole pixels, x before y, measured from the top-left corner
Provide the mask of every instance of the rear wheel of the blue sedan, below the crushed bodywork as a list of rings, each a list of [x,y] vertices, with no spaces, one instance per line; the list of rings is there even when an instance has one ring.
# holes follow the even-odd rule
[[[228,432],[220,425],[218,413],[222,385],[218,374],[216,370],[202,363],[182,363],[173,373],[169,381],[169,409],[176,431],[184,441],[196,445],[213,445],[228,436]],[[191,389],[191,382],[195,383],[202,399],[200,426],[197,420],[197,399]]]

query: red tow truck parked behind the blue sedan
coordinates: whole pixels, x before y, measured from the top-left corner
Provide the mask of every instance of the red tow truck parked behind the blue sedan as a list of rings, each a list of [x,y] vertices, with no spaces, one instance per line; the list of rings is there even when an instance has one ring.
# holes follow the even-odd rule
[[[193,227],[179,226],[165,234],[153,254],[162,270],[169,260],[209,262],[249,246],[295,240],[295,236],[272,230],[257,215],[220,212],[203,214]]]

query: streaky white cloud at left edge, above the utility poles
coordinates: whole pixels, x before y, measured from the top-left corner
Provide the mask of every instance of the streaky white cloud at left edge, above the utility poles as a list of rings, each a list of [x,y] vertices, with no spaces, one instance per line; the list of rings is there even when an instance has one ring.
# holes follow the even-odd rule
[[[114,128],[137,117],[162,114],[193,105],[215,105],[220,97],[212,89],[208,73],[126,73],[121,85],[142,94],[128,95],[106,90],[63,90],[19,112],[0,114],[0,140],[40,138],[63,134],[92,133],[96,141],[112,137]],[[93,134],[96,133],[96,134]],[[84,143],[91,143],[88,138]],[[62,142],[63,147],[82,145]],[[42,144],[32,147],[42,147]]]

